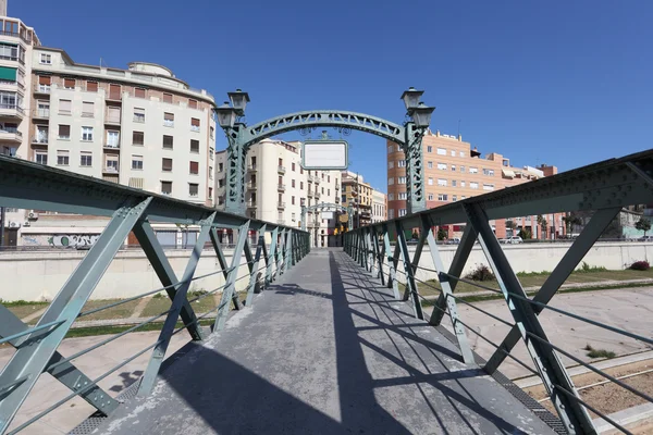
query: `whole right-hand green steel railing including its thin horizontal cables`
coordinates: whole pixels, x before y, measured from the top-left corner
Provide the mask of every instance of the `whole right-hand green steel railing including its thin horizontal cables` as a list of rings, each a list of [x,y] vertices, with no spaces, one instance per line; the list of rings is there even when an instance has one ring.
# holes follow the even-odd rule
[[[428,320],[430,325],[441,327],[444,316],[448,316],[452,320],[454,339],[466,363],[482,365],[489,374],[503,376],[497,370],[506,358],[509,358],[529,373],[539,376],[547,395],[540,402],[550,401],[553,405],[559,420],[552,423],[552,426],[558,432],[596,433],[597,421],[592,420],[593,413],[603,419],[601,424],[630,433],[614,414],[602,412],[597,409],[601,407],[590,403],[579,393],[580,388],[575,385],[566,365],[578,364],[602,376],[606,383],[613,383],[632,395],[632,398],[637,399],[634,402],[653,403],[651,395],[626,377],[611,375],[587,358],[580,358],[580,349],[569,349],[565,343],[556,344],[556,334],[550,339],[541,319],[555,314],[588,325],[582,331],[590,334],[589,339],[596,337],[597,340],[602,340],[614,334],[624,337],[624,340],[637,341],[644,349],[653,345],[651,330],[633,332],[629,331],[627,324],[611,325],[609,321],[606,322],[611,319],[611,307],[600,309],[599,319],[594,319],[550,304],[560,286],[623,208],[649,203],[653,203],[653,151],[604,161],[397,220],[365,226],[344,235],[344,249],[362,268],[379,277],[383,285],[392,288],[397,300],[408,301],[416,318]],[[506,245],[500,244],[490,221],[577,211],[593,211],[593,214],[534,296],[529,297],[506,257],[503,248]],[[453,224],[465,224],[465,231],[451,264],[445,266],[433,228]],[[419,240],[415,249],[409,250],[406,231],[414,229],[419,232]],[[391,244],[391,240],[394,244]],[[477,240],[498,288],[463,276],[463,270]],[[422,256],[430,258],[432,268],[420,265]],[[419,271],[434,274],[435,279],[420,279]],[[460,283],[485,291],[494,299],[504,300],[503,312],[492,312],[488,304],[479,301],[482,298],[478,296],[455,295],[454,290]],[[422,291],[432,291],[435,299],[426,298],[420,294],[420,288]],[[430,316],[423,312],[424,304],[433,306]],[[465,319],[464,311],[460,310],[461,304],[483,313],[488,316],[488,322],[472,325],[469,319]],[[471,316],[469,311],[466,312]],[[506,327],[505,338],[498,344],[490,340],[488,333],[502,326]],[[495,350],[489,358],[484,359],[472,351],[468,333],[494,347]],[[518,345],[526,349],[522,353],[530,357],[530,361],[523,361],[516,356],[515,349]],[[588,345],[584,350],[592,348]],[[606,355],[607,358],[613,357]],[[505,377],[501,378],[507,381]],[[520,393],[518,396],[523,398],[523,393]],[[546,413],[542,406],[537,410],[540,411],[540,415]]]

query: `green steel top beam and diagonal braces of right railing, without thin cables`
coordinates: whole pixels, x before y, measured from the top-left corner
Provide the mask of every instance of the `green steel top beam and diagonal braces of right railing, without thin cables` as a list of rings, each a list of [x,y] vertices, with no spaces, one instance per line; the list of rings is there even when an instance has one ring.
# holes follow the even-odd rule
[[[370,269],[368,260],[371,256],[372,264],[379,264],[380,275],[379,273],[377,275],[381,277],[382,285],[393,288],[394,297],[397,300],[409,300],[414,307],[415,316],[422,319],[419,300],[421,296],[416,285],[416,273],[420,268],[419,259],[424,243],[427,243],[441,286],[441,294],[435,301],[429,323],[438,326],[444,314],[449,315],[461,360],[466,363],[475,363],[464,320],[460,319],[460,313],[456,308],[457,298],[453,296],[453,293],[475,241],[478,239],[497,277],[500,294],[503,295],[515,320],[510,332],[486,362],[484,370],[488,373],[495,372],[506,357],[512,357],[510,351],[515,345],[519,340],[523,341],[565,430],[569,434],[594,434],[596,430],[587,411],[591,408],[578,396],[574,383],[558,357],[559,348],[549,341],[538,315],[547,308],[547,303],[562,284],[578,266],[584,254],[619,211],[624,207],[642,203],[653,203],[653,150],[607,160],[552,177],[414,213],[391,222],[357,228],[344,234],[344,250],[361,266],[373,271],[373,266]],[[529,299],[490,227],[490,220],[587,210],[594,211],[589,224],[571,244],[567,253],[560,259],[533,299]],[[460,223],[466,224],[465,232],[448,270],[445,270],[432,228],[439,225]],[[408,228],[420,229],[420,239],[412,250],[412,259],[406,245],[405,229]],[[395,241],[394,251],[391,238]],[[379,249],[379,246],[382,249]],[[398,291],[397,281],[404,283],[404,297]],[[577,315],[576,319],[583,320]],[[592,322],[591,320],[584,321]],[[596,325],[596,322],[592,324]],[[609,326],[604,325],[603,327],[619,332]],[[621,333],[638,337],[629,332]],[[639,336],[639,339],[644,338]],[[569,357],[568,353],[565,355]],[[642,393],[636,394],[646,397]],[[620,428],[619,425],[616,427]]]

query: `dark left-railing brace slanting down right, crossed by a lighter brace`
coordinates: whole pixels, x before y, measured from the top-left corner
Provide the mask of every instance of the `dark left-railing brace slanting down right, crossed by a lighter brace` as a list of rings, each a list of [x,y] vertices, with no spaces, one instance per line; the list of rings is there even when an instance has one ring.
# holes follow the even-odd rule
[[[155,273],[161,281],[165,288],[165,293],[170,300],[174,300],[174,296],[176,295],[176,286],[174,284],[178,283],[176,274],[174,273],[172,265],[168,261],[165,257],[165,252],[163,252],[163,248],[161,248],[161,244],[157,239],[157,235],[152,229],[151,225],[147,221],[141,221],[134,226],[134,235],[138,239],[138,244],[143,248],[147,259],[149,260]],[[194,340],[200,340],[201,331],[196,320],[195,311],[188,301],[184,301],[182,306],[182,310],[180,312],[182,321],[186,326],[188,334],[190,334],[190,338]]]

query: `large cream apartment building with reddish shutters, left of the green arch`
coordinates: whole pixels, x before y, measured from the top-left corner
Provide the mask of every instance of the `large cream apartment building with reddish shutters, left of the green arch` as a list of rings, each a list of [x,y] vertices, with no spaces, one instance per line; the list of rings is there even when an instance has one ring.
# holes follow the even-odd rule
[[[78,64],[64,50],[42,47],[20,20],[0,16],[0,152],[213,206],[215,102],[209,92],[157,64]],[[104,224],[7,209],[13,234],[4,243],[52,245],[62,234],[65,240],[99,234]]]

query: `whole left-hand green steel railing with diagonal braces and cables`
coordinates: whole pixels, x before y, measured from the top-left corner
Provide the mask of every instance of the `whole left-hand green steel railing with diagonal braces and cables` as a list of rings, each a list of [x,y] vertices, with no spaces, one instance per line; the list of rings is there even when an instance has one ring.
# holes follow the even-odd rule
[[[120,403],[98,383],[150,352],[147,369],[137,387],[138,395],[147,395],[155,385],[174,335],[186,331],[193,340],[202,340],[209,333],[222,330],[232,309],[241,310],[244,306],[251,306],[256,293],[264,289],[310,249],[308,233],[297,228],[222,213],[208,207],[3,156],[0,156],[0,207],[110,217],[97,241],[35,325],[23,322],[0,303],[0,345],[15,348],[0,373],[0,433],[16,433],[76,396],[97,409],[99,415],[110,414]],[[200,228],[181,276],[173,270],[157,239],[152,224],[158,223],[195,225]],[[224,246],[220,243],[219,234],[222,229],[234,233],[235,244],[231,247],[231,258],[225,254]],[[258,241],[250,246],[248,239],[252,231],[257,232]],[[94,289],[131,234],[138,240],[161,286],[102,307],[85,309]],[[211,250],[205,250],[205,246],[211,246]],[[202,252],[215,256],[219,265],[217,270],[197,273]],[[196,283],[202,279],[206,283],[215,275],[220,276],[220,285],[199,294],[189,291]],[[211,283],[214,284],[215,281]],[[131,283],[125,279],[122,285],[128,286]],[[243,291],[238,293],[238,288]],[[16,299],[21,299],[21,288],[15,288],[15,291]],[[206,302],[206,298],[217,299],[220,294],[214,306],[201,315],[196,314],[194,303],[201,300]],[[156,295],[168,298],[170,304],[71,356],[63,357],[58,351],[77,320]],[[130,333],[144,330],[159,331],[158,338],[101,375],[87,376],[74,365],[77,358],[97,351]],[[36,382],[46,372],[70,388],[71,393],[61,400],[47,403],[47,407],[42,405],[42,410],[36,415],[22,417],[12,424],[21,406],[33,393]]]

